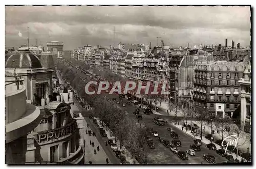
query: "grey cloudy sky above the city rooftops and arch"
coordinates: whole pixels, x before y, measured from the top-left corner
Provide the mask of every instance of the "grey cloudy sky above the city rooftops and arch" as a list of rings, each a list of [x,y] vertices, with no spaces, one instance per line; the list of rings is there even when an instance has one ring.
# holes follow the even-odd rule
[[[27,27],[31,45],[57,40],[65,50],[119,42],[156,45],[156,37],[173,46],[224,45],[225,38],[229,45],[234,40],[246,46],[251,39],[249,7],[7,6],[6,46],[27,43]]]

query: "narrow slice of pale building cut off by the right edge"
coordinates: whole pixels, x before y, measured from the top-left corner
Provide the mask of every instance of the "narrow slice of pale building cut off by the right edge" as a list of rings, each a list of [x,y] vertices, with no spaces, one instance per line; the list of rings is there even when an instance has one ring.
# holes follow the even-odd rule
[[[239,80],[241,85],[241,126],[245,132],[250,132],[251,124],[251,70],[250,65],[244,66],[243,77]]]

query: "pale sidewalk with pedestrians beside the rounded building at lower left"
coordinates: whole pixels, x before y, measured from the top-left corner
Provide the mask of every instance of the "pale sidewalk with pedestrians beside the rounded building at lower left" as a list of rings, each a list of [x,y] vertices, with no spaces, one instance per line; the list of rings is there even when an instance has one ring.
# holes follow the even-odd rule
[[[71,104],[71,111],[73,110],[79,110],[78,107],[74,104]],[[82,117],[81,114],[79,114],[79,117]],[[84,164],[88,164],[89,161],[92,161],[92,164],[106,164],[106,154],[104,150],[102,149],[101,145],[99,144],[97,138],[95,136],[89,136],[89,134],[86,134],[86,130],[91,130],[91,128],[87,127],[86,120],[84,120],[84,133],[81,135],[83,139],[85,140],[84,145]],[[90,145],[91,142],[94,142],[94,147]],[[99,151],[97,151],[97,146],[99,146]],[[96,149],[97,154],[94,154],[94,149]],[[109,160],[109,164],[111,164],[111,161]]]

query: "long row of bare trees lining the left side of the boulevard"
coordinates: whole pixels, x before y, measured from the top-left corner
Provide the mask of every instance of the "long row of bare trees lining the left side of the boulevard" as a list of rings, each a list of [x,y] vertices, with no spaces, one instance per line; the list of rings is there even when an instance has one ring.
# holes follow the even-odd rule
[[[115,142],[119,140],[120,149],[125,146],[133,158],[136,158],[140,163],[148,163],[146,135],[150,133],[151,129],[142,127],[135,121],[125,118],[124,112],[115,105],[110,104],[103,96],[87,95],[84,92],[84,81],[82,81],[86,76],[84,73],[78,71],[77,68],[73,67],[71,63],[65,60],[57,60],[55,64],[65,79],[70,81],[73,89],[79,92],[79,96],[94,107],[94,116],[101,123],[103,122],[102,124],[105,124],[106,130],[111,130],[111,134],[115,136]],[[77,63],[77,65],[79,64]],[[93,72],[98,75],[102,73],[105,75],[104,78],[108,78],[109,80],[113,80],[111,79],[112,77],[118,77],[112,76],[110,72],[97,72],[97,70],[93,70]]]

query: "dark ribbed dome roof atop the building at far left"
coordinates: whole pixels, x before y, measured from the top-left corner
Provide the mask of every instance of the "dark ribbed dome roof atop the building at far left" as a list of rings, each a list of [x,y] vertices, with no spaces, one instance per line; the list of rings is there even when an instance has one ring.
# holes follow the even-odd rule
[[[19,51],[7,59],[5,67],[36,69],[42,66],[39,59],[34,54],[29,51]]]

